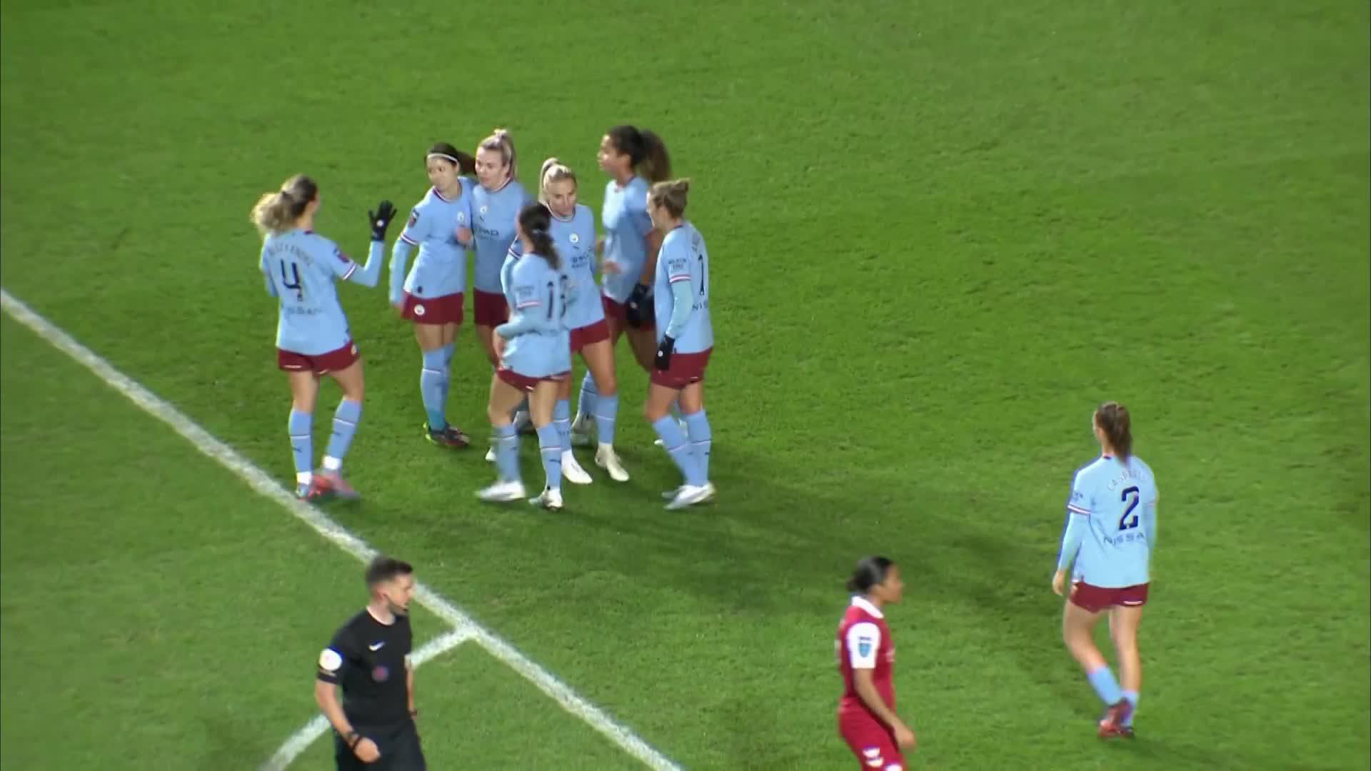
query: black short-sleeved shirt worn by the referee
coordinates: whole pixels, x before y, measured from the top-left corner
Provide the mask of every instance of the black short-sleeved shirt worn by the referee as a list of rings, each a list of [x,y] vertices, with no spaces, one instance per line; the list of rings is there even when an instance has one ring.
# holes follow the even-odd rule
[[[354,727],[404,723],[410,719],[404,668],[413,643],[409,616],[383,624],[362,609],[319,653],[315,676],[343,686],[343,713]]]

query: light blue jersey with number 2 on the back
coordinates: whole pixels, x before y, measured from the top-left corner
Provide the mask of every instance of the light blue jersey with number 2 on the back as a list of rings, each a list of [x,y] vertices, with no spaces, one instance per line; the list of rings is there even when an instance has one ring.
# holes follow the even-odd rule
[[[1075,578],[1109,589],[1148,583],[1148,523],[1156,506],[1157,483],[1142,458],[1101,455],[1078,471],[1067,516],[1089,517],[1090,530],[1076,553]]]

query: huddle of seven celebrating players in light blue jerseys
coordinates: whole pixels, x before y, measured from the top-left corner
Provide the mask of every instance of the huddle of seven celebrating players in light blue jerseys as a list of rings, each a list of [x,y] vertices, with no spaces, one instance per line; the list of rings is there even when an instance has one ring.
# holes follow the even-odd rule
[[[414,325],[422,354],[424,435],[441,447],[470,443],[448,423],[446,405],[457,331],[465,317],[466,258],[474,254],[476,335],[494,368],[487,407],[494,439],[487,460],[498,469],[496,482],[477,493],[483,501],[525,497],[518,435],[529,425],[546,473],[543,491],[531,503],[561,509],[562,477],[574,484],[592,482],[576,461],[573,444],[594,443],[595,465],[616,482],[629,479],[614,451],[613,348],[625,335],[650,375],[644,414],[683,475],[683,484],[664,494],[668,509],[714,495],[703,403],[714,343],[709,254],[701,232],[686,220],[690,181],[672,180],[665,144],[635,126],[611,128],[598,158],[610,177],[599,237],[594,213],[577,202],[576,173],[557,158],[543,162],[533,196],[518,180],[509,132],[499,129],[481,140],[474,155],[435,144],[424,158],[430,188],[395,241],[389,302]],[[296,174],[263,195],[251,220],[263,235],[266,291],[280,305],[277,365],[291,383],[288,432],[296,494],[355,498],[341,466],[362,417],[362,361],[335,281],[380,283],[395,207],[383,200],[369,213],[370,250],[358,265],[314,232],[319,204],[318,184]],[[415,247],[418,254],[406,270]],[[587,373],[573,421],[570,372],[577,353]],[[339,383],[343,399],[315,469],[313,414],[324,375]]]

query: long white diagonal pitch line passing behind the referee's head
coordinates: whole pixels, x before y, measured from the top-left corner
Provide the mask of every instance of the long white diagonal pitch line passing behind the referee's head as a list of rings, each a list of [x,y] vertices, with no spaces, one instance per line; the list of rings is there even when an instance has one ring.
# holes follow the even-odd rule
[[[0,288],[0,307],[15,321],[32,329],[36,335],[47,340],[55,348],[74,358],[93,372],[96,377],[104,380],[111,388],[126,396],[130,402],[162,423],[170,425],[177,434],[184,436],[196,450],[214,458],[223,468],[232,471],[252,490],[269,498],[296,519],[314,528],[315,532],[330,541],[339,549],[352,554],[358,560],[369,561],[377,554],[376,549],[361,538],[352,535],[347,528],[333,521],[332,517],[319,509],[298,499],[292,493],[281,487],[270,475],[254,465],[251,461],[236,453],[232,447],[215,439],[208,431],[186,417],[170,402],[148,391],[132,377],[123,375],[110,362],[95,354],[90,348],[75,342],[59,327],[38,316],[22,300]],[[557,679],[551,672],[535,664],[526,656],[514,649],[507,641],[477,624],[470,616],[463,613],[451,601],[420,583],[415,586],[414,598],[420,605],[428,608],[433,615],[450,623],[458,632],[469,631],[473,639],[480,643],[491,656],[510,665],[520,675],[528,678],[543,693],[557,700],[562,709],[580,717],[588,726],[599,731],[605,738],[614,742],[620,749],[640,760],[655,771],[680,771],[672,759],[653,749],[651,745],[638,737],[628,726],[610,717],[605,711],[595,707],[584,697],[572,690],[570,686]]]

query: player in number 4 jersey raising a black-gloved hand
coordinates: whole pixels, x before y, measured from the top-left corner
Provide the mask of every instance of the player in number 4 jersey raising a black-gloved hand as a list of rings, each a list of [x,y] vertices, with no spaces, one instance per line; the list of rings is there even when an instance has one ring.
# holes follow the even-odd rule
[[[395,217],[395,207],[383,200],[370,214],[372,248],[361,269],[337,244],[313,232],[318,210],[319,187],[304,174],[296,174],[280,191],[263,195],[252,207],[251,220],[265,236],[259,265],[266,276],[266,291],[280,299],[281,307],[276,327],[277,365],[291,379],[288,431],[295,454],[296,494],[302,498],[355,498],[356,491],[343,480],[343,457],[362,418],[362,361],[333,281],[376,285],[385,251],[385,229]],[[343,401],[333,413],[333,436],[324,455],[324,471],[314,473],[314,401],[322,375],[341,386]]]

